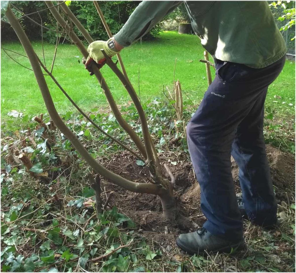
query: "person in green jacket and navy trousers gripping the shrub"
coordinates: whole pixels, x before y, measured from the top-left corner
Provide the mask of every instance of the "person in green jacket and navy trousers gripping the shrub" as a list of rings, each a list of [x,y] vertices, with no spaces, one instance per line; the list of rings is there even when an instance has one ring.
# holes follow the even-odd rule
[[[115,55],[181,3],[142,1],[114,37],[89,45],[86,68],[93,61],[102,67],[101,49]],[[216,77],[187,125],[207,221],[176,243],[191,254],[230,252],[244,247],[242,215],[266,228],[277,222],[263,117],[268,86],[281,72],[287,49],[266,1],[185,1],[185,6],[195,34],[214,59]],[[231,155],[239,166],[242,197],[235,193]]]

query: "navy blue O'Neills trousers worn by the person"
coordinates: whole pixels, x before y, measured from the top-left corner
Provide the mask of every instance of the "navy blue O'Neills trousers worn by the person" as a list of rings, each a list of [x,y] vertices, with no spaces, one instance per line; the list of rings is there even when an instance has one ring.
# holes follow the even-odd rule
[[[201,189],[204,227],[215,235],[239,238],[243,223],[231,174],[231,155],[248,217],[258,225],[276,222],[263,137],[267,88],[281,72],[285,57],[265,68],[215,60],[216,77],[187,125],[187,142]]]

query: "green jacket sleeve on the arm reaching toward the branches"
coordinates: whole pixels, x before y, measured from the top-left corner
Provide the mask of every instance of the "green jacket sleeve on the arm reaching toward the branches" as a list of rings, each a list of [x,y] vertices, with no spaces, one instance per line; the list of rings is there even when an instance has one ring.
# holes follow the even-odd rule
[[[114,35],[115,40],[124,47],[131,45],[181,3],[182,1],[142,1],[122,29]]]

